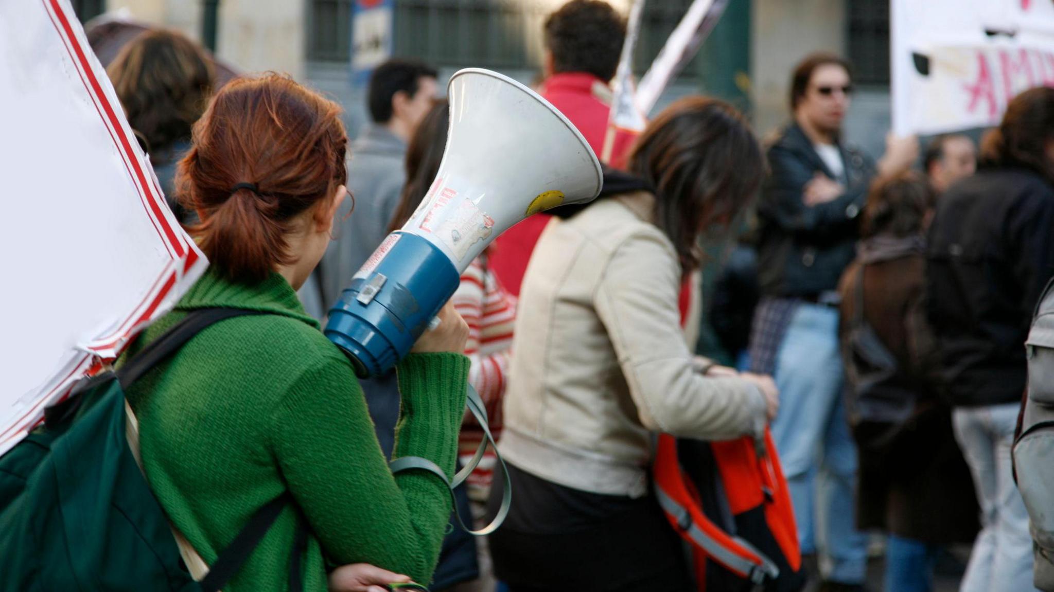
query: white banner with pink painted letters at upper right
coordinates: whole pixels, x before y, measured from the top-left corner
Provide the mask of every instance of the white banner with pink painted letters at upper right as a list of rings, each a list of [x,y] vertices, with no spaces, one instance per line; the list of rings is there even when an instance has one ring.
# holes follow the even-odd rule
[[[1014,96],[1054,85],[1049,0],[894,0],[891,23],[897,135],[996,125]]]

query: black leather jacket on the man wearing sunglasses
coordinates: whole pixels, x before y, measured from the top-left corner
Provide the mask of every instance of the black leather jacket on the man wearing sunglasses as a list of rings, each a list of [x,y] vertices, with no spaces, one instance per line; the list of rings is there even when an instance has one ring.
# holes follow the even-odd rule
[[[811,298],[837,290],[842,271],[856,255],[859,214],[875,164],[856,149],[843,144],[839,149],[845,167],[841,178],[796,123],[768,149],[770,173],[758,203],[763,295]],[[818,172],[842,183],[845,193],[827,203],[806,206],[802,190]]]

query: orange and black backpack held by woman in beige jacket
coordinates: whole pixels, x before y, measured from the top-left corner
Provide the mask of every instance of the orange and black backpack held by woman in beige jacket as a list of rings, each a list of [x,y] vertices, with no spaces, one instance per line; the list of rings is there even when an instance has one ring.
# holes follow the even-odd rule
[[[681,293],[681,322],[691,284]],[[758,440],[660,434],[655,494],[670,525],[691,545],[700,592],[797,592],[805,585],[794,507],[772,434]]]

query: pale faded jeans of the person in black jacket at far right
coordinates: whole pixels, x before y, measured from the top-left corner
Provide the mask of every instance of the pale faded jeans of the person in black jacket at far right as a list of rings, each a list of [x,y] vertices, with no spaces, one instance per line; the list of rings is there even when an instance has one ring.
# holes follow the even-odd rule
[[[981,532],[974,542],[960,592],[1035,590],[1029,514],[1014,485],[1010,448],[1018,403],[957,408],[955,439],[974,477]]]

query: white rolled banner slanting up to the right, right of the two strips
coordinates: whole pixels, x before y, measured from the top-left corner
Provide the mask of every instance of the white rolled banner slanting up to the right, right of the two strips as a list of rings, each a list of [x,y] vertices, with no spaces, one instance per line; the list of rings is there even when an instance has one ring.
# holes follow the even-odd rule
[[[724,13],[728,0],[696,0],[637,85],[637,107],[647,115],[669,81],[684,70]]]

